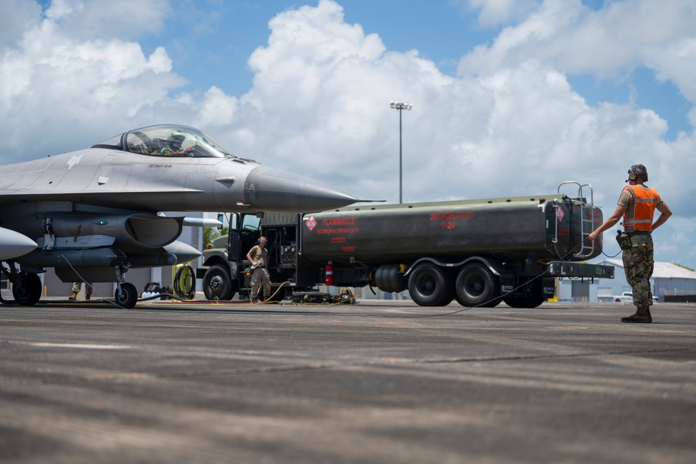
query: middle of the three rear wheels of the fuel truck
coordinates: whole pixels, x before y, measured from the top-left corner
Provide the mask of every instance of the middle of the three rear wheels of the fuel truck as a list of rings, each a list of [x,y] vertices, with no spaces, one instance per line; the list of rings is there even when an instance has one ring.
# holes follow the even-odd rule
[[[462,306],[493,307],[500,303],[500,280],[483,264],[472,263],[461,268],[454,289]]]

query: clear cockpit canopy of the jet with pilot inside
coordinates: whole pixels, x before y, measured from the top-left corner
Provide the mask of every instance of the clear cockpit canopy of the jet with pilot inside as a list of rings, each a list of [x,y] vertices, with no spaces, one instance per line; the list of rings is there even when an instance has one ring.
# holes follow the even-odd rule
[[[193,147],[193,148],[189,148]],[[193,127],[157,125],[134,129],[109,138],[92,148],[109,148],[155,156],[186,156],[197,158],[234,157],[221,143]]]

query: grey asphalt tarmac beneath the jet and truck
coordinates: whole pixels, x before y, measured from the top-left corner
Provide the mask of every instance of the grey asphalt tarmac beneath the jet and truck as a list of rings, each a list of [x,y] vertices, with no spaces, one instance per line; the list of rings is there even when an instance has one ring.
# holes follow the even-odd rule
[[[633,309],[1,306],[0,463],[695,463],[696,303]]]

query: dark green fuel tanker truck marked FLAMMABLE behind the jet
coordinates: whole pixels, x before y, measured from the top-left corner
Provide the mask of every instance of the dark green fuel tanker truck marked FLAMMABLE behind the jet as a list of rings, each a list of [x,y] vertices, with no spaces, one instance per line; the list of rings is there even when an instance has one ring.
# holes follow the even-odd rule
[[[561,193],[570,189],[572,197]],[[590,198],[583,196],[588,191]],[[312,214],[235,214],[227,237],[203,252],[205,296],[249,293],[246,253],[267,237],[274,300],[322,301],[319,285],[409,291],[422,306],[537,307],[555,278],[613,278],[588,264],[603,222],[592,187],[563,182],[557,193],[524,197],[367,205]],[[277,289],[280,291],[277,291]],[[270,299],[269,296],[264,298]]]

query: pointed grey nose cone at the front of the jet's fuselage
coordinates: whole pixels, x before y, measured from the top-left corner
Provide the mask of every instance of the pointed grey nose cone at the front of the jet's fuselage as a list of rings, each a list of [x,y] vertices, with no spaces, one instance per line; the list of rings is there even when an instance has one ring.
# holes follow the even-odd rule
[[[256,211],[312,213],[357,201],[321,182],[267,166],[253,169],[244,183],[244,202]]]

